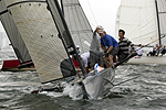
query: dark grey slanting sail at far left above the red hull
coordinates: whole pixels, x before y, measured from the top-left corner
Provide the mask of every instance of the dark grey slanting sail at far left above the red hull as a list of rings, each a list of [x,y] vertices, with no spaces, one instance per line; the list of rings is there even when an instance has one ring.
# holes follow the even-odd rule
[[[14,24],[14,21],[12,20],[10,10],[7,10],[7,7],[3,1],[0,1],[0,21],[3,24],[3,28],[8,34],[8,37],[20,63],[30,62],[31,57],[29,51],[21,37],[18,28]]]

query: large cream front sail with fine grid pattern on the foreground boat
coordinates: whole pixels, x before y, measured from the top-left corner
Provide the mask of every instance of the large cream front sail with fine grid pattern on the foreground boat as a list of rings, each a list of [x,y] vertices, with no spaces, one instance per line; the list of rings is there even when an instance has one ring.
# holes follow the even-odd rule
[[[4,1],[30,52],[41,82],[63,78],[60,64],[68,55],[45,0]],[[70,43],[66,44],[70,46]]]

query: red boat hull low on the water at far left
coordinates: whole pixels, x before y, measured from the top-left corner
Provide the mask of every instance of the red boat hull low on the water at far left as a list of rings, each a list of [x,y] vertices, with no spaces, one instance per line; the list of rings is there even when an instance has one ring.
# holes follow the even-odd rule
[[[4,72],[24,72],[24,70],[35,70],[34,66],[19,69],[18,66],[20,62],[18,59],[3,61],[1,70]]]

